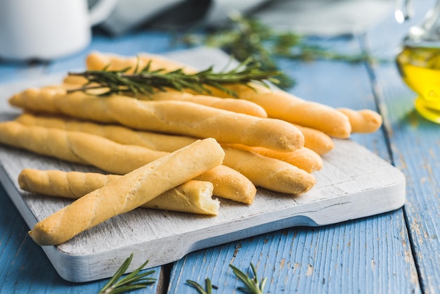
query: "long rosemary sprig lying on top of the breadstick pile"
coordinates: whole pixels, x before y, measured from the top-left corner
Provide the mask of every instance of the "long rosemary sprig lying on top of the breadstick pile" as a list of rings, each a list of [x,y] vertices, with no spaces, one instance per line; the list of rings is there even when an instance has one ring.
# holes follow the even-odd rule
[[[101,96],[111,94],[144,94],[149,96],[154,91],[166,91],[167,88],[183,90],[192,89],[200,94],[210,94],[208,87],[224,91],[229,96],[236,97],[234,91],[224,87],[226,84],[244,84],[252,88],[251,82],[268,87],[266,81],[278,83],[273,78],[279,75],[276,70],[261,70],[259,63],[251,63],[247,58],[232,70],[214,72],[207,68],[200,72],[186,73],[183,69],[166,72],[165,70],[150,70],[150,63],[145,68],[136,67],[134,73],[128,73],[130,68],[124,70],[86,70],[85,72],[69,72],[69,75],[81,76],[88,80],[83,87],[72,91],[88,91],[90,89],[104,89]]]

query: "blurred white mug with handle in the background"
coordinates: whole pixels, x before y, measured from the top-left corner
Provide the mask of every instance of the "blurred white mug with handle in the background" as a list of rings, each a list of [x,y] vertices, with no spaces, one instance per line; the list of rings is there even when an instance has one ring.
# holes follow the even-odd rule
[[[110,15],[116,0],[1,0],[0,58],[51,60],[77,53],[91,27]]]

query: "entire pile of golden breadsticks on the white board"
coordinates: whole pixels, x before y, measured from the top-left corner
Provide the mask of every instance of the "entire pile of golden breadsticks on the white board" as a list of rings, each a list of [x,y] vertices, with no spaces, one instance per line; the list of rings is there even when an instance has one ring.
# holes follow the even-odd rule
[[[91,53],[89,70],[193,69],[160,56]],[[299,195],[316,182],[332,137],[375,132],[372,110],[335,109],[285,91],[231,84],[239,98],[157,91],[151,96],[101,97],[77,89],[86,81],[26,89],[12,96],[22,108],[0,123],[0,143],[98,167],[108,174],[22,170],[20,188],[75,199],[37,223],[40,245],[63,243],[136,207],[216,215],[219,200],[251,204],[257,188]]]

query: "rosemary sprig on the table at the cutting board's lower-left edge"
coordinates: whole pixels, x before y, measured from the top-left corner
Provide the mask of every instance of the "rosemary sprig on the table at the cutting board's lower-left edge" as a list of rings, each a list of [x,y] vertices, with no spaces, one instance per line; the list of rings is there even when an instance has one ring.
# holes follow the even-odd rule
[[[137,290],[141,288],[145,288],[146,286],[155,283],[156,279],[150,278],[150,274],[153,274],[155,271],[145,271],[141,273],[140,271],[147,265],[148,260],[135,269],[131,274],[127,274],[127,276],[122,277],[122,275],[127,271],[131,260],[133,259],[133,253],[131,253],[130,257],[124,261],[124,263],[117,269],[116,273],[110,281],[98,292],[98,294],[118,294],[118,293],[127,293],[131,290]],[[122,277],[122,278],[121,278]]]

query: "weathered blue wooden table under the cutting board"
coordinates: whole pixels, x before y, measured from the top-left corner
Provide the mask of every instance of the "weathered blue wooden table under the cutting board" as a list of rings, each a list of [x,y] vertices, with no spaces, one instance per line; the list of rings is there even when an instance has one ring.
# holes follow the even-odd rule
[[[399,25],[392,15],[363,35],[318,40],[345,53],[368,52],[394,59],[410,25],[433,5],[417,1],[415,20]],[[0,62],[0,84],[78,68],[91,50],[135,55],[176,50],[173,35],[140,31],[122,37],[96,33],[89,48],[51,63]],[[190,253],[155,268],[158,279],[138,293],[195,293],[187,279],[240,293],[229,264],[247,271],[252,262],[268,277],[267,293],[440,293],[440,125],[413,110],[415,94],[394,63],[280,60],[297,80],[292,93],[335,107],[370,108],[384,117],[382,129],[356,134],[361,143],[401,170],[406,205],[382,215],[323,227],[292,227]],[[96,293],[107,281],[61,279],[0,186],[0,293]]]

